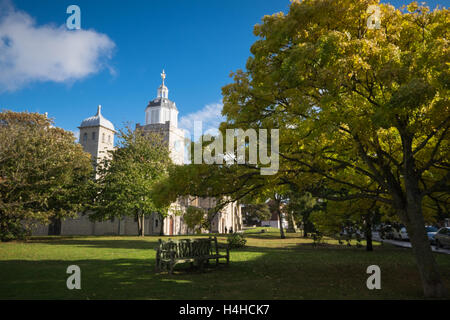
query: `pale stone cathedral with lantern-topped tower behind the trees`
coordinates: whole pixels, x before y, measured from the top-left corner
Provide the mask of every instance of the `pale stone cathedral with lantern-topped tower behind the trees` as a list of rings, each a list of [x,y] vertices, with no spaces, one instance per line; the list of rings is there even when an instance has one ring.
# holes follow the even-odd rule
[[[144,132],[161,134],[170,150],[173,163],[183,165],[185,158],[186,138],[184,131],[178,128],[178,109],[174,101],[169,100],[169,89],[165,85],[166,74],[161,74],[162,84],[157,90],[156,98],[150,101],[145,109],[145,125],[136,124],[136,129]],[[114,150],[114,125],[102,114],[99,105],[97,113],[81,122],[80,144],[89,152],[96,163],[108,156]],[[215,206],[215,198],[182,197],[173,203],[168,215],[162,219],[158,213],[152,213],[145,218],[144,233],[146,235],[183,235],[192,233],[183,220],[183,214],[188,206],[209,209]],[[242,229],[241,206],[237,202],[228,204],[218,212],[212,222],[211,231],[228,233]],[[207,230],[203,230],[207,232]],[[123,217],[101,222],[92,222],[87,215],[79,214],[78,218],[66,219],[55,226],[39,225],[33,230],[33,235],[137,235],[138,223],[132,217]]]

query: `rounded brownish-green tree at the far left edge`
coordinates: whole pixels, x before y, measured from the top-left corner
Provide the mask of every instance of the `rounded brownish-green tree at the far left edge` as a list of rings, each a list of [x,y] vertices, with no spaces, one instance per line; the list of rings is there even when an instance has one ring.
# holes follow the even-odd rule
[[[92,178],[90,154],[71,132],[38,113],[0,113],[2,241],[85,210]]]

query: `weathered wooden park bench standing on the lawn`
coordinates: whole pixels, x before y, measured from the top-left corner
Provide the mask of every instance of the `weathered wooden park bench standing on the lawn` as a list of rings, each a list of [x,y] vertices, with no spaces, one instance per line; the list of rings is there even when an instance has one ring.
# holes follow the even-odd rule
[[[179,263],[196,263],[200,270],[203,270],[203,264],[209,263],[209,260],[226,259],[226,264],[230,263],[230,251],[225,247],[226,253],[220,253],[221,248],[216,237],[200,239],[181,239],[162,241],[159,239],[156,249],[156,271],[166,269],[169,274],[173,273],[173,268]]]

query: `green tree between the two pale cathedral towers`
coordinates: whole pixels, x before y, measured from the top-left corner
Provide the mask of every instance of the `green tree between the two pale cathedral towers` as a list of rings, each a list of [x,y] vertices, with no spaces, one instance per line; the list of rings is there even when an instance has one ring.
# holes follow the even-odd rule
[[[144,236],[146,215],[158,213],[164,218],[168,213],[169,204],[156,204],[154,187],[167,176],[170,166],[169,148],[161,136],[130,128],[121,130],[118,148],[99,164],[90,218],[134,216],[138,234]]]

